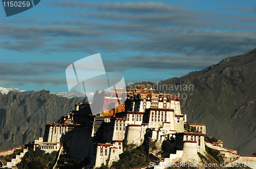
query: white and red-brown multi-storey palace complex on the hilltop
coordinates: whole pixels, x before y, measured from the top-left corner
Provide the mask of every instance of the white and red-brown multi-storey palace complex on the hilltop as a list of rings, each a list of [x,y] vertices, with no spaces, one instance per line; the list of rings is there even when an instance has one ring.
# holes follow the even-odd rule
[[[125,93],[122,95],[126,97],[125,102],[119,102],[124,98],[119,97],[118,92]],[[44,137],[29,144],[28,150],[39,147],[51,153],[65,148],[71,158],[80,160],[88,157],[91,160],[84,168],[99,167],[102,163],[110,167],[123,152],[123,139],[139,146],[144,139],[151,137],[158,142],[169,143],[167,145],[170,147],[176,146],[176,154],[153,154],[157,158],[157,165],[148,164],[139,168],[165,168],[167,162],[177,161],[200,163],[198,154],[206,153],[205,145],[220,151],[226,166],[233,161],[256,162],[256,156],[240,156],[236,150],[223,148],[221,140],[214,144],[205,142],[206,126],[203,124],[189,124],[196,127],[198,132],[184,132],[187,119],[186,114],[181,112],[180,98],[177,96],[137,86],[126,92],[122,88],[110,92],[96,91],[94,101],[100,98],[104,98],[99,110],[101,113],[93,115],[90,103],[76,104],[75,110],[58,122],[46,125]],[[108,109],[111,104],[115,104],[115,108]],[[255,165],[251,167],[256,168]]]

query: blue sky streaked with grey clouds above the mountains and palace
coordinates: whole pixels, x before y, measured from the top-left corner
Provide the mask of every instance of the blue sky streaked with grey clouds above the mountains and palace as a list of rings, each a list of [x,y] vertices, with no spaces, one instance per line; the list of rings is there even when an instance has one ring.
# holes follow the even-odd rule
[[[256,48],[255,1],[44,1],[6,17],[0,87],[68,92],[65,70],[100,53],[126,83],[158,82]]]

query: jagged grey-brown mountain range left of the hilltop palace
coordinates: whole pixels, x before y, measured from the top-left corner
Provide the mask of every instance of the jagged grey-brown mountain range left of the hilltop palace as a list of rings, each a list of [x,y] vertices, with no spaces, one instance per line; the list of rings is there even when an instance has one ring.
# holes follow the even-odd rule
[[[0,150],[43,136],[45,125],[69,113],[77,102],[76,98],[58,97],[45,90],[24,97],[14,91],[0,94]]]

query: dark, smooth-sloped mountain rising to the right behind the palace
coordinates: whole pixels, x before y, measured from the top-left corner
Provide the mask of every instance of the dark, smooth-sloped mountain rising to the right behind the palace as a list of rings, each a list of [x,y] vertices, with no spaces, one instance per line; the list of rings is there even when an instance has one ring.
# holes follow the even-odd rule
[[[194,85],[185,90],[184,85]],[[164,86],[165,85],[165,86]],[[256,49],[229,57],[204,70],[159,82],[167,92],[172,85],[181,99],[189,123],[206,124],[207,135],[224,141],[224,147],[239,154],[256,152]]]

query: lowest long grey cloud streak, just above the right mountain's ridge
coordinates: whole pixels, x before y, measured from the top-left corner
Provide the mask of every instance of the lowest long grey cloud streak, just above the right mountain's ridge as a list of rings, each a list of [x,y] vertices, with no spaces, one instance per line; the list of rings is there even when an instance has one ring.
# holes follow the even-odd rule
[[[200,70],[205,65],[216,64],[216,60],[206,58],[191,58],[180,55],[147,55],[140,54],[134,57],[124,57],[119,60],[104,62],[106,71],[120,71],[127,69],[146,69],[150,71],[164,70]]]

